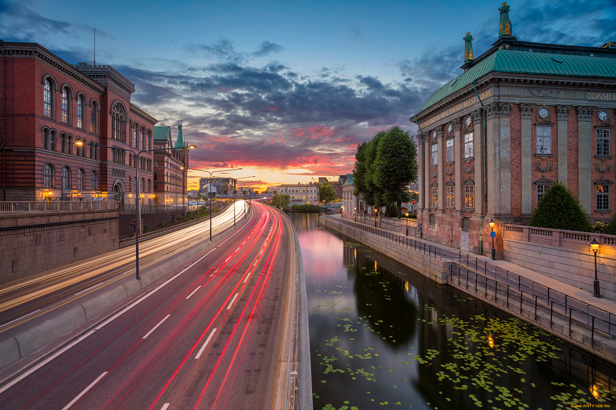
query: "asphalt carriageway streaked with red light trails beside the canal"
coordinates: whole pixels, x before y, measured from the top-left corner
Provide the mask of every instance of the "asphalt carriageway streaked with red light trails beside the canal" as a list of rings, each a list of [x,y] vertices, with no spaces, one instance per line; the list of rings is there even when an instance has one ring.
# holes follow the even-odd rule
[[[1,386],[0,408],[269,409],[288,236],[282,216],[253,203],[218,246]]]

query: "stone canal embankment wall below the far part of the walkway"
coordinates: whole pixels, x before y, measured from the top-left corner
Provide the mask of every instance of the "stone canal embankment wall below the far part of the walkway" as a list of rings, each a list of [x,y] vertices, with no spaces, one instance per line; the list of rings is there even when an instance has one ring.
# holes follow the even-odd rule
[[[363,243],[370,248],[386,254],[390,258],[401,262],[405,266],[415,269],[419,274],[427,276],[437,283],[447,283],[448,262],[419,252],[409,246],[402,246],[375,235],[368,235],[359,228],[342,223],[341,218],[318,218],[318,223],[330,227],[341,234],[347,235],[357,242]]]

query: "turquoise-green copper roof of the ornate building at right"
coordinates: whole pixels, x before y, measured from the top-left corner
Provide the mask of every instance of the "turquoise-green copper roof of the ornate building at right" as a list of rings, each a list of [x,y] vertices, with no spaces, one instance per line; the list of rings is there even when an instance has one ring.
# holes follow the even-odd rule
[[[423,104],[424,111],[487,73],[547,74],[566,77],[616,78],[616,58],[549,54],[498,49],[440,87]]]

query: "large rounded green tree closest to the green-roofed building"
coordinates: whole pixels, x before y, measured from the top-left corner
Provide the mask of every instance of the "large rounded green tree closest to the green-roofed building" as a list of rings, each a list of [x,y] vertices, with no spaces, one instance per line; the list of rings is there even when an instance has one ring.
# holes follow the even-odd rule
[[[417,145],[408,132],[395,125],[381,137],[376,151],[373,179],[381,199],[395,203],[398,218],[402,218],[402,203],[410,202],[408,184],[418,177]]]

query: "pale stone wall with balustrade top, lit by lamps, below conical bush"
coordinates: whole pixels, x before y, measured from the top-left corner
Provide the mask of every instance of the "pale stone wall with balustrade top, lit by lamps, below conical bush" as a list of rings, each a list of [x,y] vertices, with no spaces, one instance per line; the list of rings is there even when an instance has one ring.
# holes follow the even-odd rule
[[[594,282],[590,242],[596,239],[601,294],[616,300],[616,236],[519,225],[503,225],[500,230],[506,261],[589,292]]]

